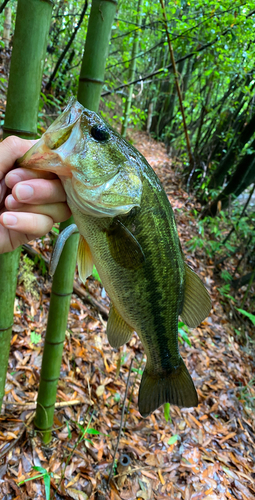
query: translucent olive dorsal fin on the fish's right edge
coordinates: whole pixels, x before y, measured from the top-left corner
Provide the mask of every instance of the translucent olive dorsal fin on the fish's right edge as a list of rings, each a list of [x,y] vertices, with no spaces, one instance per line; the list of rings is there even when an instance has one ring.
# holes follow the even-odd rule
[[[210,313],[211,298],[199,276],[184,263],[186,282],[181,318],[191,328],[198,326]]]

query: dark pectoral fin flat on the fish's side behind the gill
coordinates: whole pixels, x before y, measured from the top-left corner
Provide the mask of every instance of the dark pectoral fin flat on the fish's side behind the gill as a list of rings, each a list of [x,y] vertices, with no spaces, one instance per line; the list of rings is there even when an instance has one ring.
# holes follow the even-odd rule
[[[141,245],[132,233],[116,220],[107,231],[112,258],[125,269],[137,269],[142,265],[145,256]]]

